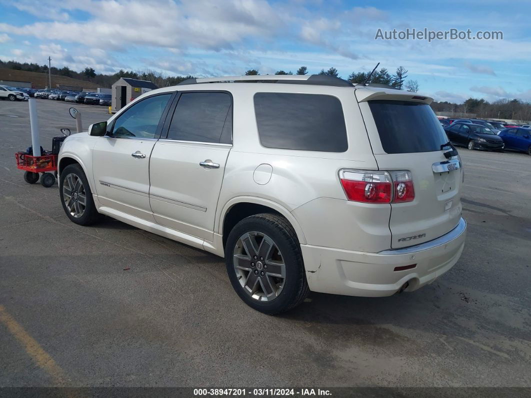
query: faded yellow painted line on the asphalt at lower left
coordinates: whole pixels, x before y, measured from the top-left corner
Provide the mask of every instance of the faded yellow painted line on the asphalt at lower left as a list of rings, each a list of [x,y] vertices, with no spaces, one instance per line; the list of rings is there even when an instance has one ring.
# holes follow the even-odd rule
[[[45,370],[48,375],[54,380],[55,386],[64,386],[65,376],[63,369],[61,369],[52,357],[31,337],[28,332],[7,313],[4,306],[0,305],[0,322],[3,323],[8,331],[15,336],[16,340],[24,347],[24,350],[37,363],[37,365]]]

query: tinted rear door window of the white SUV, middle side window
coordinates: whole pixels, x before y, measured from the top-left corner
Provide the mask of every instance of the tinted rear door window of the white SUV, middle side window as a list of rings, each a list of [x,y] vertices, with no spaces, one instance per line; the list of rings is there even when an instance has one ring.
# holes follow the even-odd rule
[[[232,99],[226,92],[183,92],[168,139],[232,143]]]

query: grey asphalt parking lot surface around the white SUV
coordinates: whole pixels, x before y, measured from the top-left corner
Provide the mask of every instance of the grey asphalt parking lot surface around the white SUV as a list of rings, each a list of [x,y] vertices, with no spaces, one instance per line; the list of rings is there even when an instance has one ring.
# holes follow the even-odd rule
[[[37,100],[41,145],[107,107]],[[17,117],[11,117],[17,116]],[[0,101],[0,386],[531,387],[531,156],[459,149],[468,237],[450,272],[388,298],[311,293],[270,317],[209,253],[29,185],[27,103]],[[127,269],[127,270],[124,270]]]

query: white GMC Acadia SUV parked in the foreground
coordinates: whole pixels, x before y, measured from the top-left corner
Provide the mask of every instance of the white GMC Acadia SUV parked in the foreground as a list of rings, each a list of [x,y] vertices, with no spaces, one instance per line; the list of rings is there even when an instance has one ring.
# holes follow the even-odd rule
[[[463,168],[431,100],[323,75],[189,79],[66,138],[63,208],[225,257],[267,314],[309,290],[413,291],[466,233]]]

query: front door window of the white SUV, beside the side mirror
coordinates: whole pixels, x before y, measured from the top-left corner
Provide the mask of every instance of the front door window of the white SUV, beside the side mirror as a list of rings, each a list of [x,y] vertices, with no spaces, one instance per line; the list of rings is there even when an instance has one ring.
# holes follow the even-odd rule
[[[112,137],[155,138],[160,116],[172,94],[156,95],[141,100],[119,115]]]

